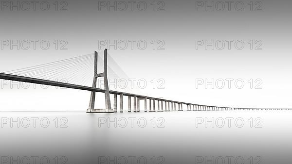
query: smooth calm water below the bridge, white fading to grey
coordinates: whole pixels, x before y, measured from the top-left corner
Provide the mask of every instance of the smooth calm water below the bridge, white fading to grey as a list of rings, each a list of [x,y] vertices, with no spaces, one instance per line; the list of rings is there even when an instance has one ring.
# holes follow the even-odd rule
[[[230,164],[291,164],[291,116],[292,111],[1,112],[0,154],[3,164],[18,157],[23,164],[34,159],[43,164],[229,164],[228,159]]]

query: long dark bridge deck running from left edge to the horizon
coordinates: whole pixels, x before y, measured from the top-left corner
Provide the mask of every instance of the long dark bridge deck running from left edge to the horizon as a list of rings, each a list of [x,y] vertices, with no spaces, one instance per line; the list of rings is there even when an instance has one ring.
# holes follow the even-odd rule
[[[82,86],[82,85],[70,84],[70,83],[65,83],[65,82],[54,82],[54,81],[49,81],[49,80],[30,78],[30,77],[24,77],[24,76],[18,76],[18,75],[10,75],[10,74],[4,74],[4,73],[0,73],[0,79],[18,81],[18,82],[29,82],[29,83],[36,83],[36,84],[43,84],[43,85],[58,86],[58,87],[64,87],[64,88],[105,93],[105,90],[100,89],[100,88],[93,88],[93,87],[89,87],[89,86]],[[123,96],[130,96],[130,97],[136,96],[137,98],[147,98],[147,99],[153,99],[153,100],[159,100],[159,101],[165,101],[165,102],[185,104],[185,105],[188,105],[188,110],[191,110],[191,107],[190,107],[191,105],[193,105],[194,108],[196,106],[196,109],[197,109],[197,107],[200,107],[202,110],[214,110],[214,109],[215,110],[255,110],[255,109],[256,110],[291,110],[290,108],[288,108],[288,109],[287,108],[286,109],[230,108],[230,107],[200,105],[200,104],[192,104],[192,103],[186,103],[186,102],[180,102],[180,101],[167,100],[167,99],[163,99],[163,98],[152,98],[152,97],[147,97],[147,96],[143,96],[143,95],[136,95],[136,94],[130,94],[130,93],[118,92],[118,91],[112,91],[112,90],[110,90],[110,94],[116,94],[116,95],[123,94]],[[199,110],[201,110],[201,109],[199,109]]]

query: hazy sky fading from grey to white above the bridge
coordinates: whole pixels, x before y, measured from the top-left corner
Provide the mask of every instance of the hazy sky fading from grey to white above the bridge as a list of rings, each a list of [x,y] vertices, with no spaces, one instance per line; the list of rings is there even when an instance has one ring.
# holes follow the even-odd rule
[[[17,1],[13,2],[17,4]],[[204,4],[198,7],[201,3],[196,4],[194,0],[155,1],[155,7],[152,1],[145,1],[145,11],[140,11],[145,5],[144,1],[136,1],[133,11],[130,3],[127,3],[126,11],[121,11],[125,4],[119,3],[120,1],[117,1],[117,11],[114,11],[114,7],[110,7],[108,11],[108,4],[103,7],[103,1],[96,0],[69,0],[62,3],[59,1],[57,7],[53,1],[49,1],[48,11],[42,11],[46,8],[46,3],[42,3],[40,8],[41,2],[36,4],[36,11],[33,4],[30,4],[28,11],[23,11],[27,9],[27,4],[19,4],[19,11],[16,7],[12,7],[11,11],[10,5],[5,7],[6,4],[1,4],[0,72],[89,54],[94,50],[107,48],[108,45],[101,45],[105,40],[110,43],[116,40],[117,49],[110,46],[109,53],[129,78],[144,78],[148,85],[152,79],[164,79],[165,89],[147,87],[142,89],[145,95],[221,106],[292,106],[291,0],[254,0],[252,8],[250,0],[244,0],[242,11],[237,11],[241,10],[238,1],[231,3],[230,11],[228,3],[224,3],[223,11],[218,11],[221,10],[222,4],[217,0],[214,1],[214,11],[212,7],[207,7],[205,11]],[[212,4],[212,1],[208,0],[207,3]],[[110,4],[114,4],[114,1],[110,1]],[[137,4],[140,4],[140,8]],[[55,11],[56,9],[58,11]],[[250,11],[251,9],[253,11]],[[27,50],[25,45],[20,45],[19,50],[17,46],[13,46],[11,50],[11,43],[5,46],[7,40],[12,40],[13,43],[19,40],[19,45],[28,40],[31,46]],[[36,50],[31,40],[38,40]],[[44,40],[50,43],[47,50],[39,46]],[[55,50],[55,40],[58,40],[58,50]],[[126,49],[123,49],[123,40],[128,44]],[[135,40],[133,49],[129,40]],[[207,43],[214,40],[214,50],[212,46],[205,49],[205,40]],[[225,47],[219,50],[222,47],[221,40]],[[233,40],[230,50],[226,40]],[[138,41],[142,41],[142,47],[146,42],[147,47],[144,50],[139,49],[141,47],[137,46]],[[241,50],[235,47],[236,41],[239,42],[239,48],[241,42],[244,43]],[[199,43],[203,45],[198,46]],[[66,46],[63,49],[67,50],[60,50],[64,45]],[[212,79],[215,82],[218,79],[242,79],[245,85],[242,89],[237,89],[234,84],[231,89],[227,86],[223,89],[212,89],[210,85],[207,89],[204,85],[196,88],[196,79],[207,79],[208,82]],[[253,89],[250,89],[250,79],[253,79]],[[256,82],[256,79],[261,80],[262,89],[255,89],[256,84],[260,83]],[[227,85],[226,80],[225,82]],[[18,89],[1,89],[1,98],[5,98],[5,101],[1,102],[4,103],[2,106],[5,109],[13,109],[14,107],[8,104],[17,97],[17,108],[21,109],[24,104],[30,108],[31,101],[27,99],[29,96],[25,95],[33,95],[35,92],[37,97],[42,98],[33,98],[34,100],[46,102],[44,99],[49,99],[59,104],[56,108],[54,105],[50,108],[76,107],[77,102],[72,106],[60,106],[63,104],[61,100],[65,100],[62,98],[67,95],[66,92],[63,93],[64,96],[58,97],[58,94],[55,94],[57,91],[54,90],[46,91],[49,93],[45,94],[38,90]],[[82,107],[79,110],[87,108],[90,93],[72,92],[74,96],[66,96],[67,105],[71,104],[70,99],[79,98],[76,110],[79,107]],[[54,98],[60,99],[60,102]],[[35,109],[37,106],[31,108]]]

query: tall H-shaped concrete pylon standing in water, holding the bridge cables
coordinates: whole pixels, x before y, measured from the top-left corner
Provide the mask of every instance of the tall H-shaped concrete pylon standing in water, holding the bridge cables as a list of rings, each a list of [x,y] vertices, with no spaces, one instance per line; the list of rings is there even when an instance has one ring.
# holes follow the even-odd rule
[[[91,97],[89,102],[89,108],[87,109],[87,113],[113,113],[114,110],[111,109],[110,105],[110,90],[109,90],[109,82],[108,82],[108,49],[104,51],[104,70],[102,73],[97,73],[97,59],[98,53],[94,51],[94,76],[92,88],[96,88],[97,78],[104,77],[104,90],[105,90],[105,100],[106,100],[106,109],[94,109],[95,103],[95,91],[91,91]]]

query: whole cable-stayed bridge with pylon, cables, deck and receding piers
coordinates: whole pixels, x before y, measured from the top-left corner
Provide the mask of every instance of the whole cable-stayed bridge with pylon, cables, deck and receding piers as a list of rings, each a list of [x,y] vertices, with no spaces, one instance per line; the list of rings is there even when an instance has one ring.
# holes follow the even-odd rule
[[[291,109],[275,109],[275,108],[234,108],[200,105],[194,103],[180,102],[163,98],[148,97],[140,94],[133,94],[122,91],[114,91],[109,89],[108,75],[118,78],[116,73],[108,66],[108,50],[104,50],[103,72],[98,73],[101,67],[102,59],[98,56],[98,52],[94,54],[83,55],[70,59],[60,60],[47,64],[31,66],[12,71],[0,73],[0,79],[29,82],[43,84],[49,86],[58,86],[64,88],[85,90],[91,92],[88,113],[114,113],[124,111],[124,99],[128,98],[128,112],[140,112],[140,101],[144,101],[145,112],[166,112],[166,111],[221,111],[221,110],[291,110]],[[121,68],[118,70],[123,74]],[[80,75],[81,74],[81,75]],[[97,88],[97,78],[103,78],[104,88]],[[58,79],[65,79],[60,82]],[[77,81],[78,84],[71,81]],[[88,82],[92,82],[89,84]],[[91,86],[89,86],[91,85]],[[105,109],[94,109],[95,94],[101,92],[105,94]],[[113,95],[113,104],[111,103],[110,94]],[[119,98],[119,106],[117,104]],[[133,98],[133,106],[131,99]],[[157,105],[155,105],[157,104]]]

